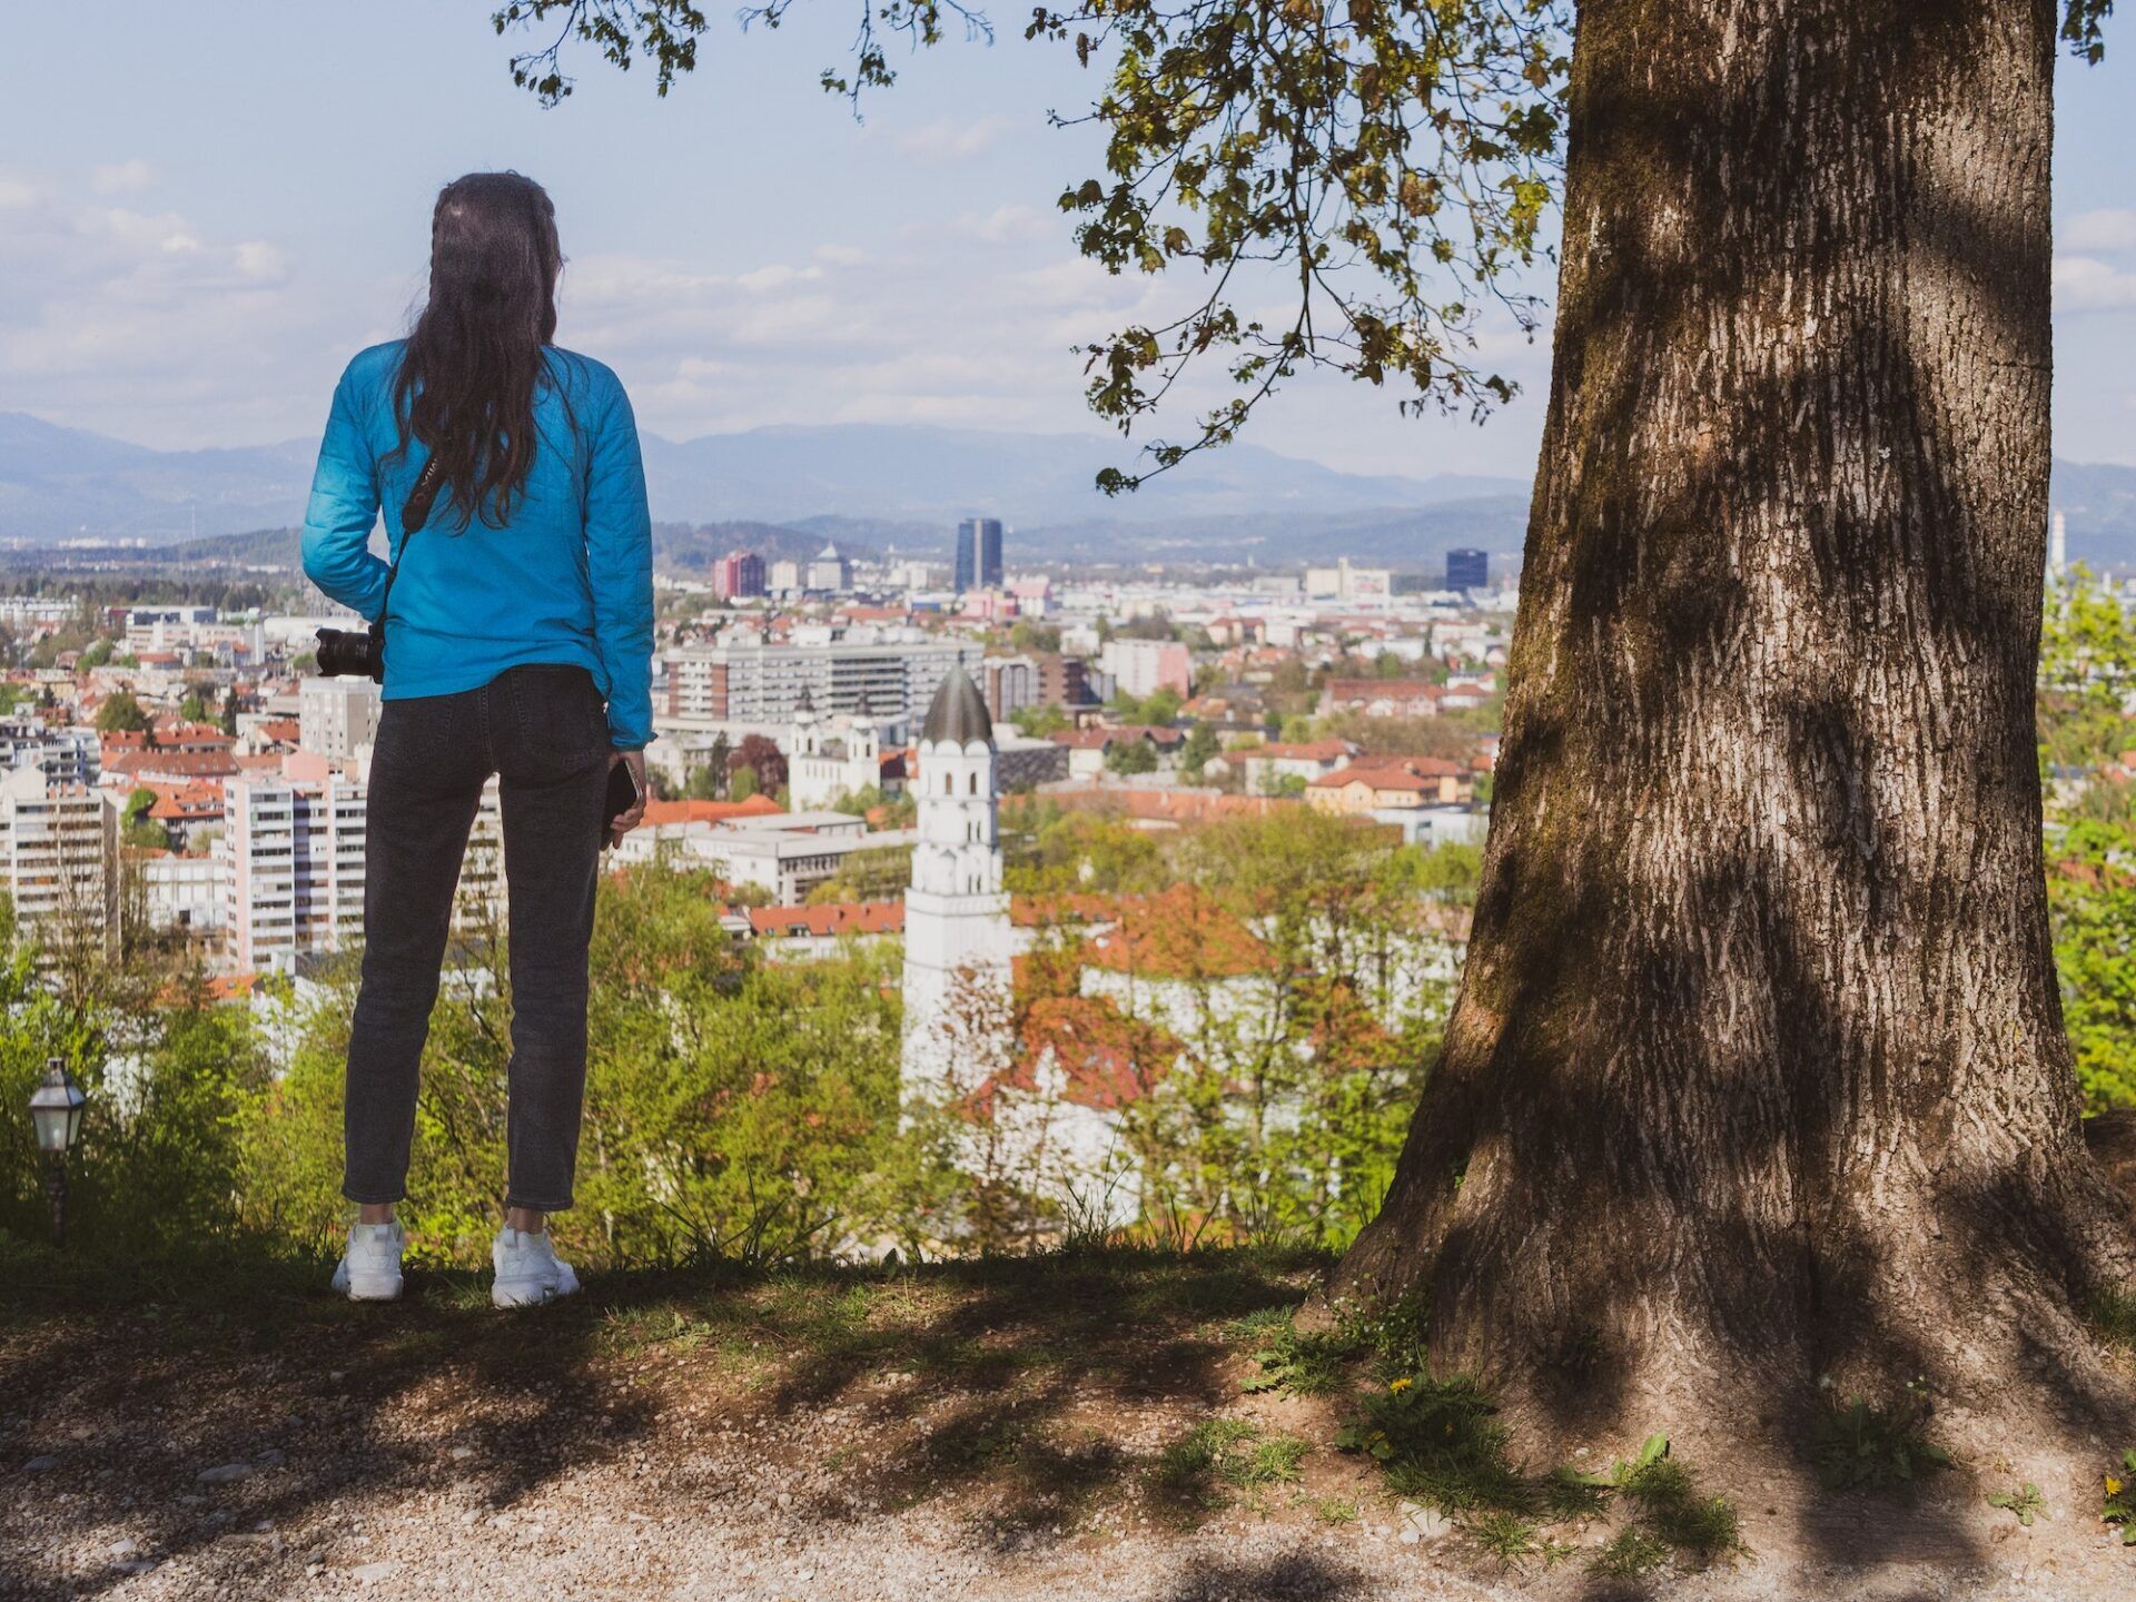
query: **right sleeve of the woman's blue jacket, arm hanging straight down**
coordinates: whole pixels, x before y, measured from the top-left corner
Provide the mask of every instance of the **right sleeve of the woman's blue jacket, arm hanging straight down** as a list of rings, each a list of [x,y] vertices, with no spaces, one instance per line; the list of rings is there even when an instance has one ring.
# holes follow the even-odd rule
[[[622,384],[594,431],[585,570],[594,590],[594,649],[609,681],[609,739],[634,752],[654,737],[654,525],[639,425]]]

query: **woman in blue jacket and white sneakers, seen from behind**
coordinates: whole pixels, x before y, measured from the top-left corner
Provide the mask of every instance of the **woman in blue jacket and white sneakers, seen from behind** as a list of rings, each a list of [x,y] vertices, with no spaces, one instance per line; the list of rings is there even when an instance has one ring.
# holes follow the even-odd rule
[[[303,570],[384,613],[372,752],[363,991],[348,1036],[342,1194],[357,1203],[333,1288],[402,1288],[417,1064],[438,995],[459,859],[483,786],[504,805],[513,1059],[498,1307],[568,1297],[545,1220],[570,1207],[585,1089],[585,948],[602,839],[645,814],[651,523],[630,402],[598,361],[551,346],[555,209],[517,173],[438,194],[414,333],[348,363],[303,521]],[[427,523],[404,506],[436,459]],[[429,485],[425,485],[429,487]],[[397,568],[370,553],[380,506]],[[609,769],[639,801],[607,818]]]

